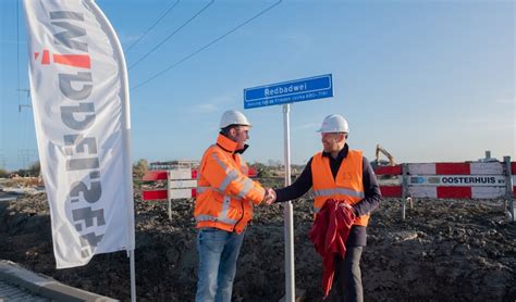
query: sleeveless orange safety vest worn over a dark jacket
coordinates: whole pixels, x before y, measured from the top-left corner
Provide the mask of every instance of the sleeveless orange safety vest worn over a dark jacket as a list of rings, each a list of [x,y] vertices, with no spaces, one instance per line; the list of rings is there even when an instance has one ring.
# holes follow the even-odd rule
[[[355,204],[364,199],[363,183],[363,152],[349,150],[342,161],[336,177],[330,167],[330,159],[322,156],[322,152],[311,160],[311,178],[314,189],[314,215],[322,209],[328,199],[344,200]],[[354,225],[367,226],[369,214],[359,216]]]

